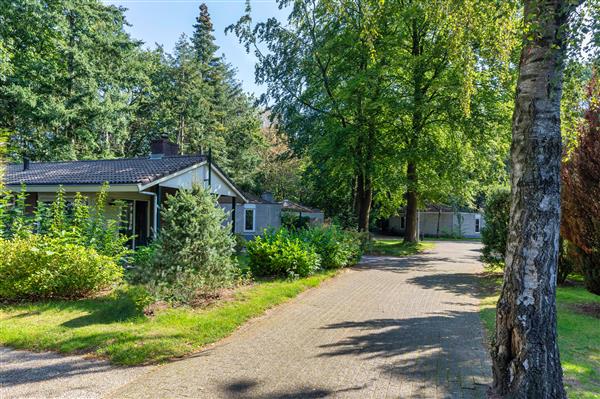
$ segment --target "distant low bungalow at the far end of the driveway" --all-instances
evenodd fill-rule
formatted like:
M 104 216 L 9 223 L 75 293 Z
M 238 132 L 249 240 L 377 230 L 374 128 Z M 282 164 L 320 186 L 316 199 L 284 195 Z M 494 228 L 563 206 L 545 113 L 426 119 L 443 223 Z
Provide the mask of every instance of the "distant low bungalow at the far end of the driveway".
M 485 220 L 481 213 L 469 209 L 454 209 L 444 205 L 429 205 L 418 212 L 420 236 L 455 236 L 480 238 Z M 403 212 L 384 221 L 382 230 L 386 233 L 404 234 L 406 217 Z

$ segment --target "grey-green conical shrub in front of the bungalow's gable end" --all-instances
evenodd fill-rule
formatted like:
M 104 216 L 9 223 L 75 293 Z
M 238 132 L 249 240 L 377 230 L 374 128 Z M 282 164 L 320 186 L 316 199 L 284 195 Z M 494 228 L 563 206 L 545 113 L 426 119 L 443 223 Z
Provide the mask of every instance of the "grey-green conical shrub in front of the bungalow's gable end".
M 138 255 L 135 272 L 163 299 L 189 302 L 230 285 L 237 275 L 227 215 L 205 188 L 179 190 L 165 202 L 155 247 Z

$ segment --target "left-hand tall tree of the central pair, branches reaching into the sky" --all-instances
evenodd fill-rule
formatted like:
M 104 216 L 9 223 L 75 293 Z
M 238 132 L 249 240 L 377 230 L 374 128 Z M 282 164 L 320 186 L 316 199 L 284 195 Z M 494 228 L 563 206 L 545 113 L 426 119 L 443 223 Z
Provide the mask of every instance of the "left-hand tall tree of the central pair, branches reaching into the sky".
M 275 19 L 253 26 L 248 5 L 228 29 L 258 56 L 257 81 L 269 88 L 263 101 L 272 101 L 294 151 L 308 155 L 322 202 L 341 199 L 367 230 L 383 172 L 375 159 L 382 154 L 385 52 L 372 23 L 384 15 L 371 1 L 281 2 L 288 4 L 287 26 Z

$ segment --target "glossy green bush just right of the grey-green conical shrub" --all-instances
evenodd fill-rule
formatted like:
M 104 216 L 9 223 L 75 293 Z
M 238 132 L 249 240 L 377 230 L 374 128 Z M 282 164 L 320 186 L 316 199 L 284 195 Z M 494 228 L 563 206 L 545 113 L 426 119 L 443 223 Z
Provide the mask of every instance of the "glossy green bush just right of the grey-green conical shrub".
M 304 277 L 320 266 L 320 257 L 312 245 L 286 229 L 267 231 L 248 241 L 246 248 L 255 276 Z

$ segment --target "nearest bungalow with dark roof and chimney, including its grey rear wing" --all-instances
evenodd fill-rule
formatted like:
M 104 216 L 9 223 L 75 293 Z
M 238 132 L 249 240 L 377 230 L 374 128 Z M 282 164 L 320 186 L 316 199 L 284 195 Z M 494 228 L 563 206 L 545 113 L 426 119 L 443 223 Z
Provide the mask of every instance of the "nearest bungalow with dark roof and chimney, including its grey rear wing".
M 59 186 L 65 191 L 67 201 L 80 192 L 93 204 L 107 182 L 110 185 L 108 203 L 120 200 L 125 204 L 123 230 L 135 236 L 131 243 L 133 248 L 146 245 L 160 231 L 160 209 L 166 196 L 178 189 L 190 189 L 193 184 L 209 186 L 217 194 L 220 206 L 229 212 L 236 234 L 252 238 L 267 228 L 281 226 L 285 202 L 275 202 L 269 193 L 260 197 L 243 193 L 207 156 L 178 155 L 178 146 L 166 139 L 152 142 L 151 152 L 148 157 L 130 159 L 24 160 L 7 165 L 4 183 L 12 191 L 20 191 L 25 184 L 28 205 L 33 207 L 38 201 L 52 202 Z M 116 213 L 111 214 L 116 209 L 109 206 L 108 217 L 117 218 Z

